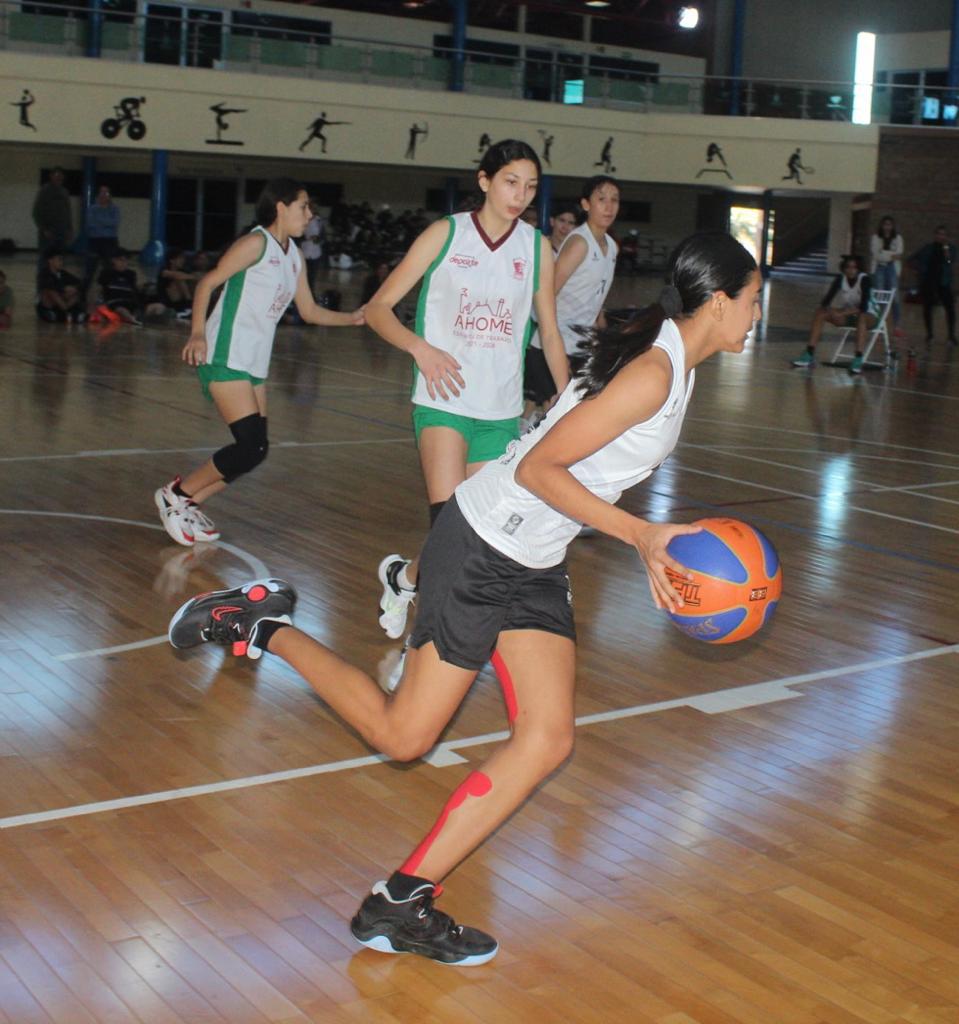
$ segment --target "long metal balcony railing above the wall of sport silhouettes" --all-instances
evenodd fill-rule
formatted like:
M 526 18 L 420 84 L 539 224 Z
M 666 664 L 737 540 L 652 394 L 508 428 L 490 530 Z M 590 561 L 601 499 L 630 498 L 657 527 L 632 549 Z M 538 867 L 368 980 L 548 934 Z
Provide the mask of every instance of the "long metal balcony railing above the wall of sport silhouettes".
M 84 56 L 95 34 L 100 57 L 110 60 L 431 90 L 462 80 L 470 93 L 636 113 L 852 120 L 851 82 L 630 73 L 604 69 L 601 57 L 569 49 L 550 51 L 549 57 L 524 56 L 519 45 L 516 55 L 457 53 L 340 36 L 328 27 L 317 22 L 315 31 L 296 32 L 234 26 L 230 10 L 190 6 L 169 17 L 0 0 L 0 50 L 8 52 Z M 537 45 L 537 54 L 543 51 Z M 954 125 L 959 99 L 946 88 L 879 83 L 871 110 L 879 124 Z

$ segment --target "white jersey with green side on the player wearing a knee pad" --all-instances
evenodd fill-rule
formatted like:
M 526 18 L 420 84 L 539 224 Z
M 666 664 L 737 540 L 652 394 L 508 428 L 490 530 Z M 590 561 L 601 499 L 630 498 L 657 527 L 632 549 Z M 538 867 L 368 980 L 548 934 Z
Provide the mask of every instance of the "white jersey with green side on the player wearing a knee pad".
M 207 344 L 212 365 L 265 378 L 276 325 L 296 295 L 301 257 L 292 239 L 284 252 L 265 227 L 252 233 L 263 236 L 263 254 L 226 280 L 207 321 Z

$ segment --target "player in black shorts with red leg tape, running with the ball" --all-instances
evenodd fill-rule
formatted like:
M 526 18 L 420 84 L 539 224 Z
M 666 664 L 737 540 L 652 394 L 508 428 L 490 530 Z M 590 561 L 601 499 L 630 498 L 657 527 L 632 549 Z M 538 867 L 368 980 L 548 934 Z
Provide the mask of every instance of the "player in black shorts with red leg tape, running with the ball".
M 397 760 L 436 742 L 476 673 L 494 656 L 510 738 L 470 772 L 432 830 L 379 882 L 351 922 L 364 945 L 447 964 L 482 964 L 496 941 L 460 928 L 433 901 L 440 883 L 570 754 L 575 634 L 565 553 L 581 523 L 634 547 L 657 607 L 682 600 L 670 539 L 698 527 L 654 523 L 615 507 L 675 445 L 694 368 L 739 352 L 759 317 L 755 261 L 727 234 L 683 242 L 669 287 L 626 326 L 594 332 L 589 357 L 548 414 L 497 462 L 462 483 L 422 556 L 402 685 L 388 696 L 359 669 L 290 625 L 282 581 L 188 601 L 170 624 L 175 647 L 234 643 L 278 655 L 370 745 Z M 495 655 L 493 651 L 495 650 Z

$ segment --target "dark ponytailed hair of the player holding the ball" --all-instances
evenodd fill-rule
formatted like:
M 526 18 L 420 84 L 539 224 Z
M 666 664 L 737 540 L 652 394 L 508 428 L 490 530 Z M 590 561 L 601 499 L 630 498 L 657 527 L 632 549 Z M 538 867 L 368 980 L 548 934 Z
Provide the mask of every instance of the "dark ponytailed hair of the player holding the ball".
M 731 234 L 691 234 L 669 257 L 666 287 L 657 302 L 619 327 L 586 330 L 579 344 L 585 362 L 577 375 L 583 397 L 592 398 L 659 337 L 663 321 L 692 316 L 715 292 L 731 299 L 746 287 L 756 261 Z

